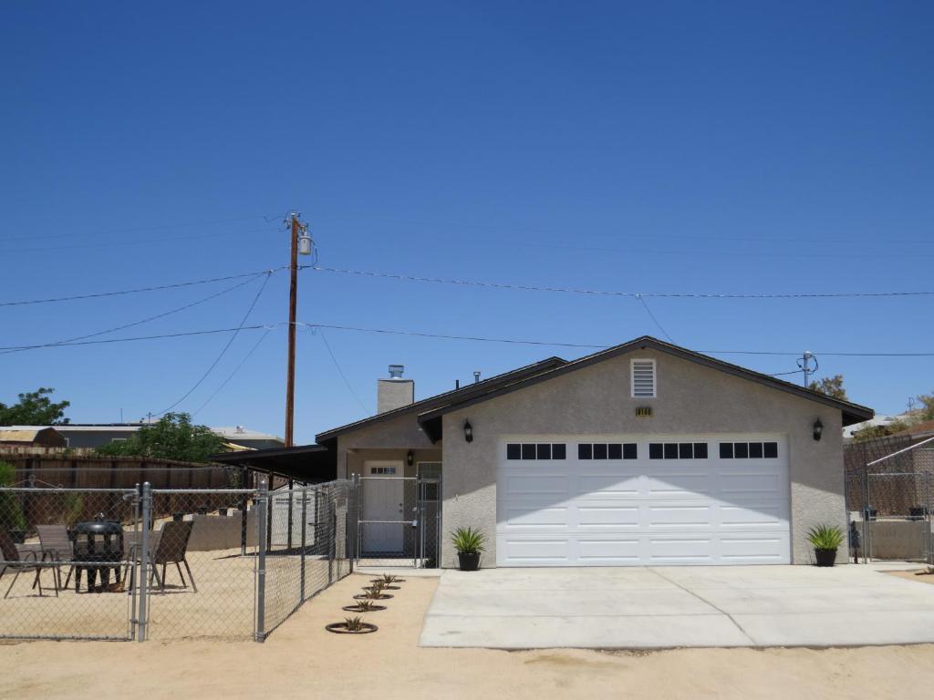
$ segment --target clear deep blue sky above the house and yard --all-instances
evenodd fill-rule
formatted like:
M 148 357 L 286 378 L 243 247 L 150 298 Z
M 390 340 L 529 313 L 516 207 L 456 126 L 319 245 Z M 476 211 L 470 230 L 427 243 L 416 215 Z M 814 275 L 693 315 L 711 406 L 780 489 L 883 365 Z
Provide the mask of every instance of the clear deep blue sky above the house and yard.
M 626 291 L 932 289 L 932 34 L 924 2 L 3 3 L 0 301 L 276 267 L 292 207 L 333 267 Z M 0 345 L 133 323 L 231 284 L 0 307 Z M 300 287 L 306 322 L 661 336 L 631 299 L 312 272 Z M 258 288 L 100 338 L 230 328 Z M 277 273 L 250 321 L 283 321 L 287 291 Z M 648 302 L 699 350 L 934 347 L 930 298 Z M 197 409 L 258 332 L 177 408 Z M 185 394 L 227 339 L 0 355 L 0 400 L 48 385 L 73 421 L 135 420 Z M 327 340 L 366 412 L 300 332 L 299 441 L 372 412 L 389 363 L 425 397 L 474 370 L 585 353 Z M 271 331 L 196 419 L 281 434 L 285 341 Z M 934 389 L 932 357 L 820 362 L 882 413 Z

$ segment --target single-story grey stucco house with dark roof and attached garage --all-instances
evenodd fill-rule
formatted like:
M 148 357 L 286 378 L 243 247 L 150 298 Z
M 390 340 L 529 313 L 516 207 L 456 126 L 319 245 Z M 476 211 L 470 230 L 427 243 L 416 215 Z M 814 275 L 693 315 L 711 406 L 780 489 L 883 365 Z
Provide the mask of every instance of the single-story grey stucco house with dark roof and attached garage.
M 812 526 L 847 526 L 842 427 L 873 416 L 649 336 L 419 401 L 400 369 L 317 440 L 339 478 L 440 476 L 443 567 L 468 525 L 484 567 L 807 564 Z M 407 518 L 402 493 L 362 517 Z

